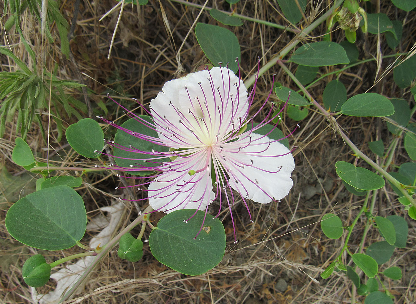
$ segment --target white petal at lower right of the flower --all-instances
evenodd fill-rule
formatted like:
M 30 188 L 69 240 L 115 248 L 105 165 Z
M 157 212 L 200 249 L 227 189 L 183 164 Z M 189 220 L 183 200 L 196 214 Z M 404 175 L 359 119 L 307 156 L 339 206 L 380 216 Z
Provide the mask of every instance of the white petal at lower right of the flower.
M 218 158 L 225 169 L 231 169 L 228 173 L 230 186 L 244 198 L 258 203 L 282 199 L 293 186 L 290 178 L 295 168 L 292 154 L 280 142 L 269 142 L 267 136 L 252 133 L 251 142 L 247 137 L 223 144 L 221 154 L 225 161 Z M 286 155 L 278 156 L 282 154 Z

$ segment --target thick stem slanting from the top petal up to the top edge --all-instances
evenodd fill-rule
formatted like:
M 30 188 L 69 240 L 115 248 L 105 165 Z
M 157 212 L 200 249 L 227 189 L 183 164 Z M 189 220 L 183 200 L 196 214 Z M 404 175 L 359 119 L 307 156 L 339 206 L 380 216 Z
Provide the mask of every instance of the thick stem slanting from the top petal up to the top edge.
M 177 1 L 177 0 L 176 0 Z M 274 66 L 278 60 L 281 60 L 283 57 L 285 57 L 296 45 L 305 38 L 310 32 L 312 32 L 313 29 L 315 29 L 318 25 L 320 25 L 322 22 L 327 20 L 327 18 L 342 4 L 344 0 L 338 0 L 334 2 L 334 5 L 330 10 L 325 12 L 321 17 L 319 17 L 317 20 L 312 22 L 309 26 L 305 27 L 299 34 L 297 34 L 297 39 L 294 39 L 290 44 L 288 44 L 286 47 L 284 47 L 279 54 L 276 54 L 272 59 L 270 59 L 264 66 L 260 68 L 258 71 L 258 76 L 262 76 L 266 71 L 268 71 L 272 66 Z M 244 85 L 246 88 L 251 86 L 256 78 L 258 77 L 256 74 L 249 77 L 246 81 L 244 81 Z

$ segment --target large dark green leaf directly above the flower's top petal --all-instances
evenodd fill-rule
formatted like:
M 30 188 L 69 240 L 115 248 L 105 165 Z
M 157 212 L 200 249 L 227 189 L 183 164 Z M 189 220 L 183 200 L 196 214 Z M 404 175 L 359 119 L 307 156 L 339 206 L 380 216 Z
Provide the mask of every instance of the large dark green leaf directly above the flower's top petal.
M 238 72 L 240 60 L 240 44 L 233 32 L 223 27 L 198 22 L 195 27 L 195 35 L 199 46 L 214 66 L 222 66 L 228 63 L 228 68 L 234 73 Z

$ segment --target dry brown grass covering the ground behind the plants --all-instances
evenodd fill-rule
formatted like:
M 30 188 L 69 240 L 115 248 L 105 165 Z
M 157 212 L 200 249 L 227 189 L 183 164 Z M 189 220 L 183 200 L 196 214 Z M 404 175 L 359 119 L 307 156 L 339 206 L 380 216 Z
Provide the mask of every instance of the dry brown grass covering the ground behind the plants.
M 77 7 L 73 1 L 62 1 L 62 13 L 67 20 L 72 20 Z M 203 5 L 203 1 L 196 1 Z M 414 12 L 406 14 L 397 10 L 390 1 L 381 1 L 379 7 L 374 6 L 374 11 L 386 12 L 391 19 L 405 20 L 403 37 L 399 51 L 408 51 L 415 37 L 416 15 Z M 380 3 L 379 1 L 374 4 Z M 207 64 L 208 60 L 198 46 L 191 25 L 200 12 L 199 9 L 187 7 L 170 1 L 149 1 L 148 5 L 136 7 L 127 5 L 121 17 L 115 36 L 111 57 L 106 59 L 109 52 L 109 44 L 114 27 L 119 15 L 115 10 L 108 17 L 99 22 L 99 18 L 108 12 L 116 4 L 115 1 L 81 1 L 79 15 L 70 41 L 73 58 L 64 58 L 57 44 L 42 44 L 40 36 L 40 24 L 27 11 L 22 15 L 22 32 L 25 39 L 30 42 L 35 53 L 42 62 L 42 68 L 51 71 L 55 64 L 58 77 L 82 81 L 94 91 L 87 98 L 92 109 L 96 113 L 102 113 L 97 103 L 103 101 L 109 109 L 106 118 L 109 120 L 123 119 L 123 113 L 106 98 L 110 93 L 115 98 L 126 99 L 125 105 L 135 107 L 134 103 L 127 101 L 126 97 L 136 97 L 144 104 L 150 102 L 161 89 L 163 83 L 173 77 L 180 76 L 178 64 L 183 67 L 185 73 L 194 71 L 198 66 Z M 209 2 L 218 9 L 229 10 L 224 1 Z M 327 1 L 310 1 L 305 17 L 300 28 L 309 25 L 314 17 L 324 9 Z M 163 13 L 166 14 L 165 24 Z M 241 15 L 255 17 L 260 20 L 287 24 L 277 8 L 275 1 L 240 1 L 233 6 Z M 2 11 L 2 10 L 1 10 Z M 7 16 L 1 18 L 0 26 L 4 25 Z M 210 17 L 208 11 L 204 11 L 198 20 L 210 24 L 217 24 Z M 292 39 L 295 34 L 281 29 L 275 29 L 266 25 L 253 22 L 244 22 L 241 27 L 227 27 L 238 37 L 242 49 L 240 67 L 242 74 L 251 76 L 257 69 L 257 58 L 260 57 L 261 65 L 265 64 L 272 56 L 277 54 Z M 191 31 L 186 39 L 177 61 L 178 48 L 184 37 Z M 54 37 L 57 31 L 52 30 Z M 319 41 L 319 36 L 324 34 L 325 26 L 322 24 L 316 28 L 310 37 L 302 43 Z M 4 30 L 2 30 L 4 33 Z M 337 30 L 332 33 L 332 40 L 340 42 L 344 40 L 343 32 Z M 59 40 L 57 40 L 59 41 Z M 13 47 L 15 54 L 27 61 L 27 53 L 18 35 L 2 35 L 2 44 Z M 360 58 L 377 57 L 377 37 L 375 35 L 359 36 L 357 43 L 360 50 Z M 42 47 L 43 46 L 43 47 Z M 392 54 L 383 37 L 381 37 L 381 53 Z M 42 51 L 44 51 L 42 56 Z M 43 58 L 43 59 L 42 59 Z M 44 60 L 44 61 L 41 61 Z M 340 74 L 339 80 L 346 87 L 348 96 L 364 93 L 371 89 L 372 92 L 384 94 L 389 97 L 406 98 L 412 100 L 408 91 L 400 90 L 393 81 L 392 71 L 386 70 L 393 59 L 370 61 Z M 1 58 L 2 71 L 13 70 L 15 67 L 7 58 Z M 288 68 L 295 72 L 296 65 L 287 63 Z M 380 67 L 377 73 L 377 67 Z M 322 67 L 319 73 L 325 74 L 336 68 Z M 383 74 L 384 71 L 389 73 Z M 82 73 L 82 74 L 81 74 Z M 258 104 L 267 96 L 272 86 L 272 74 L 277 74 L 276 79 L 284 86 L 296 89 L 292 80 L 278 66 L 267 71 L 258 81 Z M 87 77 L 86 75 L 90 76 Z M 381 78 L 380 76 L 383 75 Z M 334 76 L 335 78 L 335 76 Z M 322 102 L 322 92 L 326 84 L 331 81 L 326 77 L 308 89 L 318 102 Z M 378 82 L 376 82 L 376 80 Z M 375 85 L 374 85 L 375 83 Z M 79 93 L 74 97 L 83 100 Z M 120 97 L 121 96 L 121 97 Z M 124 97 L 123 97 L 124 96 Z M 272 97 L 275 98 L 275 97 Z M 256 107 L 258 104 L 255 104 Z M 414 103 L 412 103 L 414 105 Z M 43 124 L 47 129 L 48 113 L 42 114 Z M 253 108 L 253 112 L 255 108 Z M 139 110 L 140 112 L 140 110 Z M 95 114 L 94 114 L 95 115 Z M 64 118 L 64 126 L 76 122 L 75 118 Z M 394 137 L 387 131 L 382 118 L 352 118 L 341 117 L 338 120 L 350 139 L 370 157 L 374 154 L 369 150 L 367 142 L 380 139 L 388 146 Z M 282 131 L 288 134 L 293 130 L 296 122 L 284 118 Z M 233 244 L 230 216 L 223 211 L 220 219 L 226 227 L 227 240 L 226 255 L 223 262 L 208 273 L 196 277 L 181 275 L 161 265 L 154 259 L 147 245 L 144 246 L 144 257 L 137 263 L 129 263 L 120 260 L 116 250 L 102 260 L 94 269 L 87 280 L 87 284 L 78 292 L 76 298 L 65 303 L 181 303 L 181 304 L 269 304 L 269 303 L 351 303 L 362 302 L 362 297 L 357 296 L 352 283 L 346 275 L 336 272 L 331 278 L 323 280 L 319 277 L 322 270 L 337 255 L 343 240 L 329 240 L 320 230 L 319 220 L 322 214 L 332 211 L 340 216 L 342 221 L 350 224 L 363 204 L 363 198 L 352 196 L 344 188 L 334 170 L 334 163 L 338 160 L 354 162 L 351 150 L 344 145 L 342 139 L 332 130 L 327 121 L 311 109 L 310 114 L 301 122 L 302 128 L 289 138 L 290 144 L 299 148 L 295 152 L 296 168 L 293 173 L 294 187 L 290 194 L 280 203 L 260 205 L 253 203 L 250 210 L 254 215 L 254 224 L 251 224 L 248 214 L 242 204 L 234 206 L 237 214 L 236 226 L 240 242 Z M 77 159 L 77 155 L 69 149 L 64 140 L 56 142 L 56 125 L 53 121 L 50 125 L 50 150 L 51 162 L 54 165 L 92 166 L 93 162 L 85 159 Z M 107 130 L 106 136 L 110 137 L 114 130 Z M 14 146 L 15 124 L 7 124 L 4 138 L 0 139 L 2 166 L 7 168 L 15 176 L 24 174 L 20 167 L 11 161 L 11 151 Z M 27 142 L 41 161 L 46 161 L 46 144 L 39 132 L 39 127 L 33 125 L 28 133 Z M 399 145 L 393 158 L 390 170 L 394 171 L 396 165 L 409 161 L 403 147 Z M 374 158 L 377 162 L 381 160 Z M 359 161 L 366 167 L 366 164 Z M 65 174 L 64 169 L 59 174 Z M 120 190 L 113 190 L 119 185 L 119 180 L 111 174 L 89 174 L 84 181 L 79 193 L 83 196 L 89 218 L 98 213 L 98 208 L 108 206 L 114 198 L 124 194 Z M 308 195 L 311 189 L 318 189 L 313 195 Z M 125 193 L 124 195 L 129 195 Z M 403 269 L 404 278 L 400 281 L 386 280 L 384 284 L 394 294 L 396 303 L 411 303 L 416 299 L 414 287 L 416 272 L 414 259 L 415 249 L 415 222 L 404 214 L 403 206 L 397 201 L 393 191 L 386 184 L 380 189 L 376 197 L 378 214 L 381 216 L 398 214 L 409 221 L 408 246 L 404 249 L 396 249 L 390 262 L 391 266 L 399 266 Z M 34 253 L 34 250 L 12 240 L 4 226 L 4 218 L 10 203 L 0 204 L 0 302 L 7 304 L 32 303 L 30 289 L 21 278 L 23 262 Z M 145 206 L 140 206 L 144 209 Z M 211 213 L 217 211 L 218 205 L 214 203 Z M 134 214 L 134 206 L 126 206 L 127 216 L 122 225 L 128 224 Z M 159 215 L 153 216 L 157 221 Z M 355 252 L 359 248 L 365 229 L 365 218 L 358 222 L 349 241 L 349 250 Z M 146 228 L 146 235 L 150 229 Z M 134 232 L 138 232 L 135 231 Z M 87 243 L 93 233 L 87 233 L 83 242 Z M 381 240 L 379 233 L 370 229 L 366 235 L 365 244 Z M 74 253 L 72 248 L 65 252 L 42 252 L 48 261 L 56 260 L 62 256 Z M 344 255 L 344 262 L 349 257 Z M 317 284 L 312 279 L 317 279 Z M 276 289 L 279 279 L 285 279 L 288 287 L 285 291 Z M 45 287 L 39 289 L 40 293 L 54 289 L 54 282 L 50 281 Z

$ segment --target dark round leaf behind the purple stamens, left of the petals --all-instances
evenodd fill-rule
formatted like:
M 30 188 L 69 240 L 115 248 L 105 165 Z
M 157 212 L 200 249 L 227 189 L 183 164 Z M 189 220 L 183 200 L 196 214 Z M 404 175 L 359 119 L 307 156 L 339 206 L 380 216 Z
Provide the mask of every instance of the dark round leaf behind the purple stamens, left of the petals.
M 144 135 L 158 138 L 159 136 L 157 132 L 143 125 L 142 123 L 140 123 L 140 121 L 138 121 L 140 119 L 146 120 L 148 123 L 153 124 L 150 116 L 140 115 L 138 116 L 138 118 L 130 118 L 129 120 L 127 120 L 125 123 L 121 125 L 121 128 L 134 131 L 136 134 L 144 134 Z M 116 132 L 116 136 L 114 137 L 114 141 L 116 142 L 117 145 L 121 145 L 122 147 L 126 147 L 127 149 L 131 145 L 132 150 L 137 149 L 140 151 L 149 152 L 149 154 L 136 153 L 136 152 L 130 152 L 130 151 L 118 149 L 115 147 L 114 148 L 114 160 L 117 166 L 124 167 L 124 168 L 130 168 L 129 167 L 130 165 L 139 167 L 139 168 L 141 165 L 145 167 L 154 167 L 154 166 L 158 166 L 160 162 L 170 161 L 168 157 L 163 158 L 163 159 L 156 159 L 155 162 L 158 162 L 157 164 L 152 163 L 152 162 L 144 162 L 143 160 L 138 160 L 138 159 L 151 160 L 152 149 L 158 152 L 168 152 L 169 148 L 154 144 L 153 142 L 149 142 L 141 138 L 137 138 L 136 136 L 131 135 L 131 133 L 129 132 L 125 132 L 123 130 L 118 129 Z M 152 173 L 149 171 L 127 171 L 127 172 L 129 172 L 129 174 L 132 174 L 132 175 L 148 175 Z

